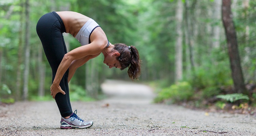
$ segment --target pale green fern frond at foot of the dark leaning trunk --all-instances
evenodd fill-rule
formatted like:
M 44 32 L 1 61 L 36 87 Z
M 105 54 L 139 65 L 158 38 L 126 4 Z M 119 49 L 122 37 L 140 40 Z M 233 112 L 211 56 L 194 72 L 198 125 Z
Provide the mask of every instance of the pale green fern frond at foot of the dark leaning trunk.
M 233 103 L 237 100 L 241 100 L 241 99 L 250 100 L 247 95 L 243 95 L 243 94 L 239 94 L 239 93 L 227 94 L 227 95 L 217 95 L 216 98 L 221 98 L 225 101 L 230 101 L 231 103 Z

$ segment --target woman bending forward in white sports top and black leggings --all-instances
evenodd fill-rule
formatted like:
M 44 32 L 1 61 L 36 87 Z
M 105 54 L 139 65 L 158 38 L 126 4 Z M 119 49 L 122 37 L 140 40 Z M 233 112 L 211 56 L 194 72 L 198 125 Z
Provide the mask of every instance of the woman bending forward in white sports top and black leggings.
M 82 46 L 67 52 L 64 32 L 70 33 Z M 68 87 L 76 69 L 91 58 L 102 53 L 103 63 L 109 68 L 123 70 L 128 67 L 129 77 L 132 80 L 139 78 L 138 50 L 125 44 L 112 45 L 97 22 L 87 16 L 71 11 L 47 13 L 37 23 L 37 34 L 52 68 L 51 95 L 61 114 L 61 129 L 83 129 L 93 125 L 93 121 L 80 119 L 76 110 L 72 112 Z

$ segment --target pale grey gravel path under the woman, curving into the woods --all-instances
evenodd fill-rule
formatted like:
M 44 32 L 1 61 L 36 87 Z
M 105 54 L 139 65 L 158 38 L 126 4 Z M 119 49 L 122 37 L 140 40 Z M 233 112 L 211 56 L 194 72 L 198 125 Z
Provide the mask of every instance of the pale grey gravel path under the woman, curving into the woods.
M 255 116 L 206 114 L 205 111 L 181 106 L 152 104 L 154 94 L 151 88 L 136 83 L 106 81 L 102 88 L 108 99 L 71 102 L 79 117 L 94 121 L 89 129 L 60 129 L 60 114 L 55 101 L 16 102 L 0 106 L 0 136 L 256 135 Z

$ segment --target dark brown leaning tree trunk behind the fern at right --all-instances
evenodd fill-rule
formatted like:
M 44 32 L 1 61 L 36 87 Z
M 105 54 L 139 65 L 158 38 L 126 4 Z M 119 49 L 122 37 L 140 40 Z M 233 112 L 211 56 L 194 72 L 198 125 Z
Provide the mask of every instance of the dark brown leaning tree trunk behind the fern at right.
M 236 30 L 232 20 L 231 0 L 222 0 L 222 21 L 227 38 L 228 54 L 235 92 L 247 94 L 240 65 Z

